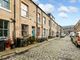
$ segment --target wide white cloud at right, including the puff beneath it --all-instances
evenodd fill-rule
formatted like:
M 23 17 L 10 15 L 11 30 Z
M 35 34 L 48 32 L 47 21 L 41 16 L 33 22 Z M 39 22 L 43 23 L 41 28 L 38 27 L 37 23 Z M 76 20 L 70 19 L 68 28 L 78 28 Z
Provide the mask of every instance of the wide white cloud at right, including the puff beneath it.
M 58 11 L 59 11 L 59 16 L 62 17 L 62 18 L 68 18 L 68 14 L 70 13 L 77 13 L 79 10 L 77 7 L 74 7 L 74 6 L 60 6 L 58 8 Z

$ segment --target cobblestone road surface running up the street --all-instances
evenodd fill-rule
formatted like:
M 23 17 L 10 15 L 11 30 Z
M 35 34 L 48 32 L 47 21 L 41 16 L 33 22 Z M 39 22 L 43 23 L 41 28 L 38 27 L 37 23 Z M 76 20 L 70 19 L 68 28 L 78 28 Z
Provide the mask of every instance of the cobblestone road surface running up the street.
M 69 37 L 56 39 L 6 60 L 80 60 L 80 48 Z

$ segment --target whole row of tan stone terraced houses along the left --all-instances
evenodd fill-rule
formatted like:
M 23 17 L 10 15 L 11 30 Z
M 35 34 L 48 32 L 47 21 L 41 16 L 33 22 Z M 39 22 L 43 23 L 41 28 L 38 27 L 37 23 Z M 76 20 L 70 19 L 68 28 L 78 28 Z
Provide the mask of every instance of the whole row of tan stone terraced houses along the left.
M 14 43 L 15 38 L 55 37 L 61 33 L 61 26 L 51 14 L 46 14 L 32 0 L 0 0 L 0 37 Z

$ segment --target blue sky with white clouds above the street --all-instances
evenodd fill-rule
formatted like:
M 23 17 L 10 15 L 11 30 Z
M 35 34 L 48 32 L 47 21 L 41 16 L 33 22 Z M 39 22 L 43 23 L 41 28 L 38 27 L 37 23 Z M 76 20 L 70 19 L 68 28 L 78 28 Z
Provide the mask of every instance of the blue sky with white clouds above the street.
M 80 0 L 33 0 L 46 13 L 51 13 L 61 26 L 75 25 L 80 19 Z

